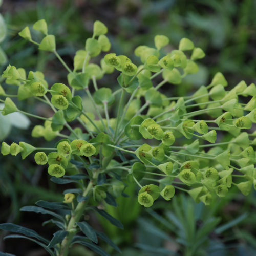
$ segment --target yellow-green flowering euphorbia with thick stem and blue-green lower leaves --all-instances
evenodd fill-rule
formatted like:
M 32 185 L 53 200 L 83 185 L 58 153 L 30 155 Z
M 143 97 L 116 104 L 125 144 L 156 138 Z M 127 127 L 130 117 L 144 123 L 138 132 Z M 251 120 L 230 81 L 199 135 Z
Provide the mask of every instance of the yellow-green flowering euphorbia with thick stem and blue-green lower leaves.
M 33 237 L 28 239 L 43 246 L 51 255 L 68 255 L 74 243 L 85 245 L 101 255 L 109 255 L 95 244 L 97 237 L 116 250 L 119 250 L 118 247 L 103 233 L 94 230 L 87 218 L 82 220 L 82 216 L 89 210 L 95 210 L 113 225 L 122 228 L 118 220 L 102 209 L 102 201 L 116 207 L 115 198 L 127 196 L 124 189 L 131 183 L 140 187 L 138 202 L 145 207 L 152 206 L 160 196 L 170 201 L 175 189 L 185 191 L 196 202 L 208 205 L 213 196 L 225 197 L 232 185 L 244 195 L 248 195 L 252 184 L 256 186 L 252 147 L 255 141 L 249 140 L 249 136 L 253 137 L 255 133 L 241 132 L 250 129 L 252 122 L 256 122 L 254 84 L 247 86 L 241 81 L 232 90 L 226 91 L 227 81 L 221 73 L 217 73 L 208 86 L 201 86 L 191 96 L 167 97 L 159 92 L 161 86 L 166 83 L 172 87 L 179 86 L 186 75 L 198 72 L 195 61 L 205 56 L 203 50 L 195 47 L 189 39 L 182 38 L 178 50 L 160 56 L 159 50 L 168 45 L 169 39 L 157 35 L 156 48 L 139 46 L 135 49 L 142 65 L 137 67 L 128 57 L 109 53 L 101 59 L 99 66 L 89 63 L 91 58 L 101 51 L 108 52 L 111 44 L 105 36 L 108 29 L 96 21 L 93 37 L 87 39 L 85 50 L 76 52 L 72 71 L 57 53 L 55 37 L 48 34 L 45 20 L 39 20 L 33 28 L 45 34 L 40 43 L 32 40 L 28 27 L 19 35 L 38 45 L 39 50 L 53 52 L 57 56 L 68 71 L 69 86 L 55 83 L 49 88 L 41 72 L 30 71 L 26 75 L 23 68 L 9 65 L 2 76 L 6 77 L 7 84 L 18 86 L 18 100 L 34 97 L 51 106 L 55 114 L 45 118 L 25 113 L 0 87 L 0 95 L 6 96 L 5 100 L 1 100 L 5 103 L 2 114 L 22 112 L 42 119 L 44 125 L 34 126 L 32 137 L 44 137 L 46 141 L 56 137 L 64 139 L 59 140 L 54 148 L 47 145 L 36 148 L 25 142 L 11 145 L 3 142 L 1 152 L 15 156 L 20 153 L 23 159 L 35 153 L 37 164 L 49 165 L 52 182 L 74 182 L 74 188 L 63 191 L 63 202 L 38 201 L 37 206 L 20 209 L 50 214 L 58 219 L 49 220 L 61 229 L 54 233 L 51 241 L 33 230 L 10 223 L 0 224 L 0 228 L 27 237 L 11 235 L 6 238 Z M 117 81 L 121 88 L 115 92 L 111 88 L 98 88 L 97 80 L 115 69 L 120 72 Z M 155 74 L 152 75 L 152 72 Z M 153 87 L 152 80 L 160 75 L 163 81 Z M 83 109 L 81 97 L 75 96 L 78 90 L 85 91 L 97 117 Z M 117 117 L 110 118 L 109 106 L 115 102 L 118 93 L 121 96 L 117 102 Z M 125 94 L 131 96 L 123 108 Z M 240 95 L 251 98 L 248 103 L 240 103 Z M 140 98 L 145 99 L 143 105 Z M 193 101 L 196 103 L 191 104 Z M 194 107 L 199 110 L 191 111 Z M 100 113 L 101 108 L 104 116 Z M 147 113 L 142 114 L 146 109 Z M 72 129 L 68 123 L 74 120 L 84 130 Z M 208 126 L 210 123 L 214 126 Z M 61 133 L 64 126 L 70 131 L 69 136 Z M 233 138 L 229 142 L 215 143 L 216 131 L 219 134 L 226 131 Z M 177 146 L 173 146 L 175 142 Z M 211 148 L 207 151 L 208 147 Z M 242 174 L 233 174 L 237 171 Z M 234 177 L 244 181 L 233 182 Z M 142 186 L 141 181 L 147 185 Z M 66 210 L 67 214 L 57 214 L 54 210 Z M 78 235 L 80 231 L 86 236 Z

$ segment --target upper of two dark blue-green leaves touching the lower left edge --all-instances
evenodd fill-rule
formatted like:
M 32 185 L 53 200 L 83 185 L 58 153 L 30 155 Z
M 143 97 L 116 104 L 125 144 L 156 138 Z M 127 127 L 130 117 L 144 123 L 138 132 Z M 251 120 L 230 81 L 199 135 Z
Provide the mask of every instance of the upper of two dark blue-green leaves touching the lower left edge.
M 9 232 L 25 234 L 25 236 L 34 237 L 34 238 L 37 238 L 38 240 L 41 240 L 44 243 L 47 243 L 47 244 L 49 243 L 48 239 L 41 237 L 36 231 L 26 228 L 26 227 L 21 227 L 21 226 L 15 225 L 13 223 L 0 224 L 0 229 L 6 230 Z

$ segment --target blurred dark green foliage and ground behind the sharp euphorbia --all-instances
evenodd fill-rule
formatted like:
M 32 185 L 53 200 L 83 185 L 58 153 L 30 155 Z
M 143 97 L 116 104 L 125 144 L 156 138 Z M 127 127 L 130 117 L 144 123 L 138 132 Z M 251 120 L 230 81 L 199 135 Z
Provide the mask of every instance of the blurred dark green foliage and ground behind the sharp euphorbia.
M 166 85 L 161 88 L 168 96 L 191 95 L 202 84 L 207 86 L 218 71 L 224 74 L 231 87 L 241 80 L 247 84 L 256 80 L 256 3 L 253 0 L 4 0 L 0 8 L 0 73 L 10 63 L 17 68 L 22 66 L 27 71 L 43 72 L 49 84 L 67 84 L 67 73 L 53 54 L 39 51 L 37 55 L 36 47 L 28 45 L 18 36 L 25 26 L 32 26 L 36 20 L 45 18 L 49 32 L 56 36 L 58 53 L 70 67 L 73 66 L 75 52 L 84 49 L 86 39 L 92 36 L 95 20 L 101 20 L 109 28 L 111 52 L 128 56 L 136 65 L 139 61 L 134 49 L 138 45 L 151 47 L 156 34 L 166 35 L 170 39 L 166 53 L 178 46 L 182 37 L 191 39 L 204 50 L 206 57 L 201 61 L 199 73 L 188 75 L 178 87 Z M 34 38 L 39 36 L 39 33 L 33 34 Z M 99 61 L 102 56 L 96 60 Z M 10 94 L 15 94 L 17 90 L 15 86 L 1 85 L 5 90 L 8 87 Z M 98 86 L 118 88 L 116 74 L 99 80 Z M 92 111 L 87 99 L 81 96 L 86 109 Z M 30 109 L 31 112 L 32 99 L 19 104 L 22 104 L 24 111 Z M 112 111 L 115 109 L 113 107 Z M 38 102 L 33 109 L 37 115 L 50 111 Z M 17 118 L 7 120 L 0 116 L 0 140 L 9 135 L 5 139 L 8 144 L 25 141 L 40 147 L 44 140 L 31 138 L 29 121 L 17 121 Z M 33 119 L 34 124 L 39 124 L 36 122 Z M 222 141 L 228 139 L 222 138 Z M 50 143 L 54 145 L 55 141 Z M 20 207 L 39 199 L 62 201 L 63 198 L 58 186 L 49 182 L 44 167 L 36 167 L 33 157 L 30 160 L 21 163 L 18 157 L 14 162 L 9 156 L 0 156 L 0 222 L 14 222 L 39 233 L 48 232 L 48 229 L 40 226 L 46 220 L 45 216 L 31 214 L 25 217 L 18 211 Z M 3 172 L 3 169 L 7 171 Z M 228 197 L 219 199 L 211 206 L 195 204 L 181 195 L 170 201 L 167 208 L 166 203 L 160 201 L 154 204 L 153 210 L 142 209 L 138 204 L 135 187 L 126 188 L 125 193 L 130 198 L 119 198 L 119 207 L 105 206 L 110 214 L 122 222 L 124 230 L 108 225 L 99 216 L 90 216 L 92 225 L 97 230 L 104 230 L 119 245 L 122 255 L 256 254 L 254 190 L 246 198 L 231 190 Z M 129 218 L 124 219 L 122 212 L 130 212 Z M 11 251 L 17 256 L 46 255 L 33 244 L 18 240 L 14 247 L 11 241 L 3 244 L 1 239 L 2 250 Z M 114 253 L 110 247 L 106 250 Z M 77 256 L 84 254 L 94 255 L 80 246 L 72 252 Z

